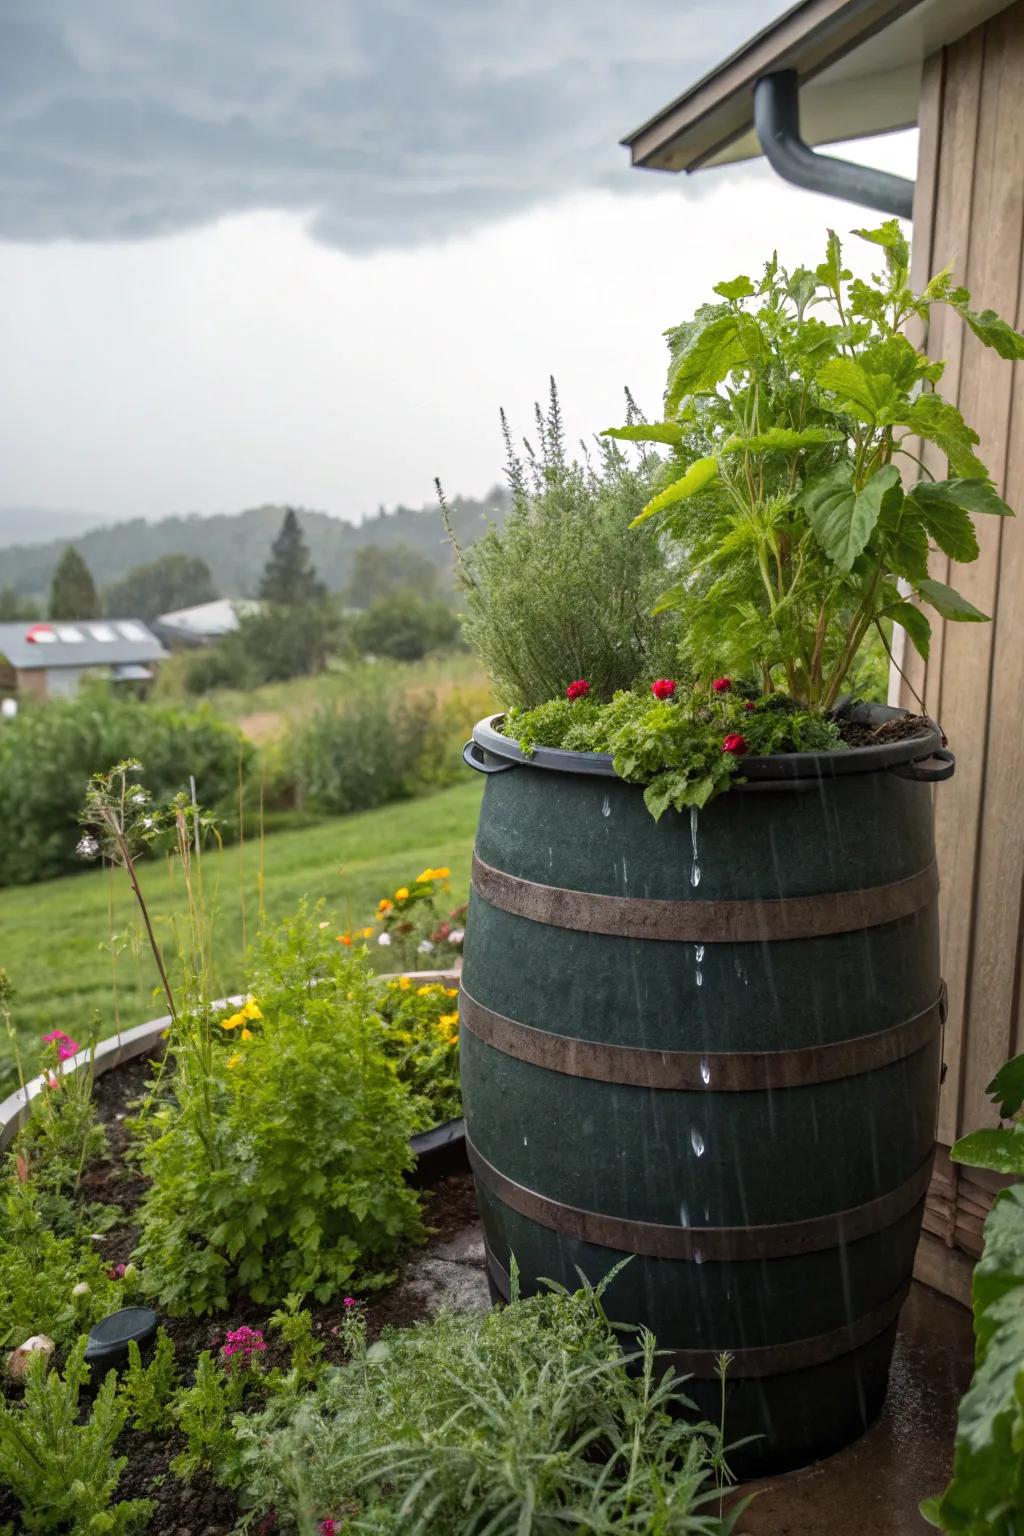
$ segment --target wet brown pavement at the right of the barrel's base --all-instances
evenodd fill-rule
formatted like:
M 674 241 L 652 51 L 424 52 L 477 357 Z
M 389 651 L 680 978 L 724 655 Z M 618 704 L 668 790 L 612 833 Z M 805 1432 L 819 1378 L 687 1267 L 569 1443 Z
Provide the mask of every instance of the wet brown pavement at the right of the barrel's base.
M 760 1493 L 737 1536 L 924 1536 L 918 1504 L 949 1481 L 972 1361 L 970 1312 L 915 1284 L 877 1422 L 827 1461 L 749 1484 Z

